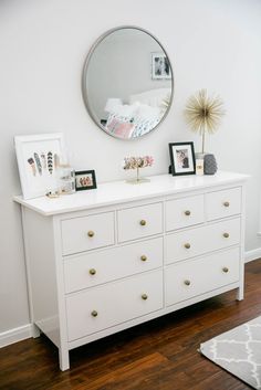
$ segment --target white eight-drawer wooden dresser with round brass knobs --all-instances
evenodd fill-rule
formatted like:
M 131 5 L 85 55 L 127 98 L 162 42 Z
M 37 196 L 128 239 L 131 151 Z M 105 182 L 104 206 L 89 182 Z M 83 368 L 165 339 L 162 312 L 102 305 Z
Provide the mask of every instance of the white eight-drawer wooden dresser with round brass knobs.
M 237 288 L 243 298 L 247 176 L 150 177 L 23 200 L 34 336 L 69 351 Z M 178 315 L 178 314 L 177 314 Z

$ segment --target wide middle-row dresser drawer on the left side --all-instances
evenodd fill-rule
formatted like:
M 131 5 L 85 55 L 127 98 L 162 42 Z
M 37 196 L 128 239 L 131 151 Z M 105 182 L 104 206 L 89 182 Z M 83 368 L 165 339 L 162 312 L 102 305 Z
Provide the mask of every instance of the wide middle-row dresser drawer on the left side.
M 70 256 L 64 261 L 65 292 L 92 287 L 163 266 L 163 238 Z

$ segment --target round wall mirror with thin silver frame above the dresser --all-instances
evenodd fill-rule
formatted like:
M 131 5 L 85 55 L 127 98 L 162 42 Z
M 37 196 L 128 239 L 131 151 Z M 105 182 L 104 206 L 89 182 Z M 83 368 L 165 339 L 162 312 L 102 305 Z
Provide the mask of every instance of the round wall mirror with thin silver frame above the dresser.
M 96 125 L 111 136 L 137 139 L 166 117 L 173 70 L 160 43 L 133 27 L 108 31 L 84 64 L 83 98 Z

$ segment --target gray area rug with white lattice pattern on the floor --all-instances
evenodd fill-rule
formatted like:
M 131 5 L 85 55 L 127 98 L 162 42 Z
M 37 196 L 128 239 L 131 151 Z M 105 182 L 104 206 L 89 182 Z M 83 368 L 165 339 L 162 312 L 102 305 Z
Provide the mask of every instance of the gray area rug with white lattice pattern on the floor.
M 200 352 L 261 389 L 261 316 L 200 345 Z

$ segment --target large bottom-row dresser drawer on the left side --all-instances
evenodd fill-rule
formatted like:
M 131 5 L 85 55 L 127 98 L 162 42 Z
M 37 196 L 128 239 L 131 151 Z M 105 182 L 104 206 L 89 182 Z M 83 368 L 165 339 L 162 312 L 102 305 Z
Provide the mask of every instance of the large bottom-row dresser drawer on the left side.
M 161 307 L 161 271 L 75 293 L 66 297 L 69 341 Z

